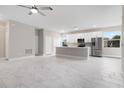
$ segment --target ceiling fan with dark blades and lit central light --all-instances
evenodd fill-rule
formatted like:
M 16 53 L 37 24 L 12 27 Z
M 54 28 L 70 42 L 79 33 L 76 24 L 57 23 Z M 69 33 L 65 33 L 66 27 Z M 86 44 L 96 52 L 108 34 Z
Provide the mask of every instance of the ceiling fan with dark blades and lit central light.
M 53 8 L 51 8 L 50 6 L 48 6 L 48 7 L 39 7 L 39 6 L 36 6 L 36 5 L 33 5 L 33 6 L 31 6 L 31 7 L 30 7 L 30 6 L 25 6 L 25 5 L 18 5 L 18 6 L 23 7 L 23 8 L 27 8 L 27 9 L 30 9 L 28 15 L 32 15 L 32 14 L 38 13 L 38 14 L 40 14 L 40 15 L 42 15 L 42 16 L 46 16 L 46 15 L 42 12 L 42 10 L 50 10 L 50 11 L 53 10 Z

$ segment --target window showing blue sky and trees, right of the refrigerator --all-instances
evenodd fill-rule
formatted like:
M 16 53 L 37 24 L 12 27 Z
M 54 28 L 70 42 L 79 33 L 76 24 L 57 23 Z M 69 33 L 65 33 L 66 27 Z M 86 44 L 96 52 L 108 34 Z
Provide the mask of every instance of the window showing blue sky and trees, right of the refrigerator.
M 104 32 L 104 47 L 120 47 L 120 38 L 121 38 L 121 32 L 120 31 L 114 31 L 114 32 Z

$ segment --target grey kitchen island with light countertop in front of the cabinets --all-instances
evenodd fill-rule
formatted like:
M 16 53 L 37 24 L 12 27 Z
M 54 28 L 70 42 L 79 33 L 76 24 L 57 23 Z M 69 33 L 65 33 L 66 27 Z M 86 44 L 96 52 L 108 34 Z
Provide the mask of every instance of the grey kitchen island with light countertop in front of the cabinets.
M 88 47 L 56 47 L 56 56 L 87 59 L 89 57 Z

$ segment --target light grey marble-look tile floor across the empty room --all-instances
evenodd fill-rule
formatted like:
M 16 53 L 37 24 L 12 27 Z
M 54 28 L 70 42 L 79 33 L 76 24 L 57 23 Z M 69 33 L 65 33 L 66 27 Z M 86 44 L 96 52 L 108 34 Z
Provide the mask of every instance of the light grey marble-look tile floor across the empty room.
M 33 57 L 0 62 L 2 88 L 124 87 L 121 59 Z

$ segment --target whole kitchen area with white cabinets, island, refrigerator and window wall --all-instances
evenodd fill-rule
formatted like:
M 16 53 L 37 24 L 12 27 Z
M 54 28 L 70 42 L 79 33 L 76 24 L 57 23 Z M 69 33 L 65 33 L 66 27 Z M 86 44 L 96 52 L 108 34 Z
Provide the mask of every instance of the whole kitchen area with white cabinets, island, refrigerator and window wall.
M 115 57 L 115 58 L 121 57 L 120 38 L 111 40 L 116 35 L 121 36 L 120 26 L 113 26 L 106 28 L 92 28 L 88 30 L 89 31 L 84 30 L 84 31 L 75 31 L 75 32 L 73 31 L 73 32 L 63 33 L 61 35 L 62 47 L 56 48 L 57 56 L 58 55 L 66 56 L 66 57 L 68 56 L 72 58 L 73 57 L 88 58 L 89 56 Z M 106 36 L 106 33 L 110 35 L 113 33 L 115 34 L 113 34 L 112 36 L 110 35 Z M 105 40 L 106 38 L 109 38 L 109 40 L 106 41 Z M 109 44 L 110 41 L 112 41 L 111 44 L 113 44 L 111 46 Z M 108 51 L 112 51 L 112 52 L 108 53 Z

